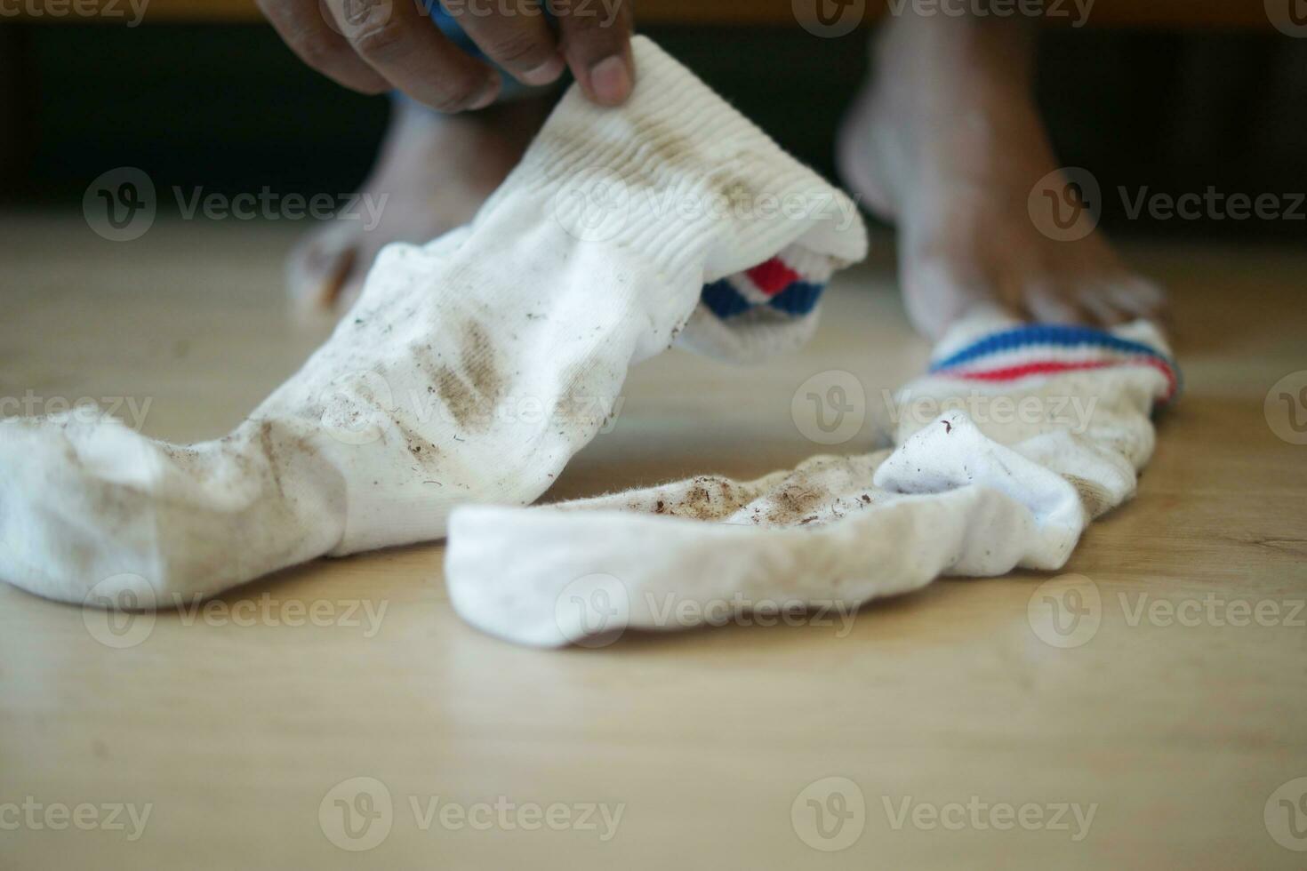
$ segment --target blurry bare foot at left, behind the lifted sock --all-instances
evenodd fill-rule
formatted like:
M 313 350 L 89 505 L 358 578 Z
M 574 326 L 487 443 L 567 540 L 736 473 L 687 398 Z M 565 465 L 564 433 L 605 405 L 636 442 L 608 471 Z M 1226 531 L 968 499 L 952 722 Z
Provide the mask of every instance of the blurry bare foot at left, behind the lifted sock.
M 310 231 L 286 262 L 302 312 L 344 311 L 376 253 L 392 242 L 429 242 L 472 219 L 521 158 L 549 111 L 531 98 L 461 115 L 397 101 L 362 204 Z

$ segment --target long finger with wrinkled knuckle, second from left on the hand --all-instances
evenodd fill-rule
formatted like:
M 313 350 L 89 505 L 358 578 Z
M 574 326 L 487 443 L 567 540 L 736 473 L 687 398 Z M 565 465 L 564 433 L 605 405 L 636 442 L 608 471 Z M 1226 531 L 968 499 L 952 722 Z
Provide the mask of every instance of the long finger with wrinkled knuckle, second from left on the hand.
M 446 39 L 418 3 L 324 1 L 354 52 L 420 103 L 460 112 L 489 106 L 499 95 L 499 73 Z

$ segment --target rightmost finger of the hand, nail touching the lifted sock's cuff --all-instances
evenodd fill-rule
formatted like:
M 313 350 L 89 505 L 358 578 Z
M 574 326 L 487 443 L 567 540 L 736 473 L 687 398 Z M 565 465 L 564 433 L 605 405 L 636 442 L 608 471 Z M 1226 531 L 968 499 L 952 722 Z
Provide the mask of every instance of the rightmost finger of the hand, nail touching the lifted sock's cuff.
M 562 52 L 586 95 L 618 106 L 631 95 L 631 0 L 549 0 L 558 17 Z

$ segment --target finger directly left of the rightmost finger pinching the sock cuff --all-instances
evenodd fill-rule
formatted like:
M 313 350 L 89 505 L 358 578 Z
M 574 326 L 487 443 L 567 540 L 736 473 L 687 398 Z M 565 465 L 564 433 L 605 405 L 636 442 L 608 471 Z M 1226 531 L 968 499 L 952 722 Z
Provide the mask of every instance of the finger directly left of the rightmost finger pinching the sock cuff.
M 566 65 L 540 0 L 446 3 L 446 12 L 490 60 L 527 85 L 549 85 Z

